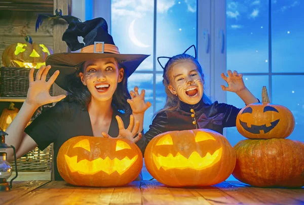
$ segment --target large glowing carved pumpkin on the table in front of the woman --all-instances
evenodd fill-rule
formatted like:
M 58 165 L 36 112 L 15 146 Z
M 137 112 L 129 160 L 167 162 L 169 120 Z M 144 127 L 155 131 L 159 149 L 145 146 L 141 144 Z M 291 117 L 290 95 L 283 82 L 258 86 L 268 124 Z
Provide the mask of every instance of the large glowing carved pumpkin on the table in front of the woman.
M 126 139 L 78 136 L 57 155 L 60 176 L 77 186 L 116 187 L 132 182 L 142 168 L 142 154 Z

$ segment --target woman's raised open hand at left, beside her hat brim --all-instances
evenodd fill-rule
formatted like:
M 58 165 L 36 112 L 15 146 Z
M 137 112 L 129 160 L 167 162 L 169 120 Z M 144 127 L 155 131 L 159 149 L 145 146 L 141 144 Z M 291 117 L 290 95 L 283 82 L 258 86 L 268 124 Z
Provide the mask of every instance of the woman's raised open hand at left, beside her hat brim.
M 29 88 L 27 91 L 26 103 L 35 106 L 36 108 L 58 102 L 65 98 L 65 95 L 51 96 L 49 91 L 53 83 L 55 82 L 57 76 L 59 75 L 59 70 L 56 70 L 54 74 L 46 81 L 47 74 L 51 66 L 42 66 L 36 73 L 36 78 L 34 80 L 34 68 L 29 71 Z

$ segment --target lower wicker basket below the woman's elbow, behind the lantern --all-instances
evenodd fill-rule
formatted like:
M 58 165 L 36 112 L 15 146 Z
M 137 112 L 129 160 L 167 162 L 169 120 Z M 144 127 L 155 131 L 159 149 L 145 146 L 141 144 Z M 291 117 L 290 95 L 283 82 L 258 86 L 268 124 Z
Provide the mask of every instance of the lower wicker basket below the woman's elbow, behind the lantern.
M 17 159 L 18 172 L 52 171 L 52 149 L 53 143 L 43 151 L 36 147 L 21 158 Z M 11 166 L 13 170 L 15 170 L 15 162 L 12 162 Z

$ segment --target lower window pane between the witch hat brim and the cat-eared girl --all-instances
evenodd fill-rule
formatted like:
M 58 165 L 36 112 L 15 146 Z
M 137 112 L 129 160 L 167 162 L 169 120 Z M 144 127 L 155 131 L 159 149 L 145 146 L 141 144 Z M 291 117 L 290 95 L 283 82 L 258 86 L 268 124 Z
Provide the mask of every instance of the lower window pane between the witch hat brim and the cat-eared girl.
M 142 89 L 145 90 L 145 101 L 149 101 L 153 105 L 153 74 L 148 73 L 133 73 L 128 78 L 128 90 L 134 90 L 134 87 L 139 88 L 139 93 Z M 153 106 L 149 107 L 144 113 L 143 129 L 147 132 L 150 121 L 153 116 Z

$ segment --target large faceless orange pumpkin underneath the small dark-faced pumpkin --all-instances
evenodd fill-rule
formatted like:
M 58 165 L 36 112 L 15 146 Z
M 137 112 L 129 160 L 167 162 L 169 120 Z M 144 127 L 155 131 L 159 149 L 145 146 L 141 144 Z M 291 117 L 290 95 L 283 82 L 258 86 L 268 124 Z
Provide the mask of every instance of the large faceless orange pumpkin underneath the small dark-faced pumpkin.
M 233 176 L 258 187 L 304 186 L 304 144 L 289 139 L 242 140 Z

